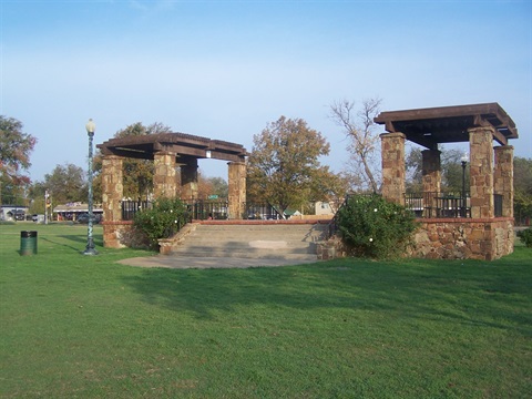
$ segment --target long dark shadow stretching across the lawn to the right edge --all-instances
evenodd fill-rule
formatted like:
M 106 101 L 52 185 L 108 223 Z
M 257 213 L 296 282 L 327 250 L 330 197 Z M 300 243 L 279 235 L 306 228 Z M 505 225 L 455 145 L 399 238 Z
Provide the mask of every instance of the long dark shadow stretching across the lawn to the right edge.
M 357 259 L 250 269 L 146 269 L 125 277 L 145 301 L 213 318 L 242 306 L 337 308 L 518 329 L 531 336 L 525 257 L 489 263 Z

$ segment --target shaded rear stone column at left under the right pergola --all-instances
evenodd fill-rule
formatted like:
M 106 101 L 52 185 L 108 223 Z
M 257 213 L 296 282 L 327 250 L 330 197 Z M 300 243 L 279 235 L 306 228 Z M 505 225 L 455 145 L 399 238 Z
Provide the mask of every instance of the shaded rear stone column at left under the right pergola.
M 441 151 L 424 150 L 422 155 L 423 216 L 436 216 L 437 197 L 441 190 Z

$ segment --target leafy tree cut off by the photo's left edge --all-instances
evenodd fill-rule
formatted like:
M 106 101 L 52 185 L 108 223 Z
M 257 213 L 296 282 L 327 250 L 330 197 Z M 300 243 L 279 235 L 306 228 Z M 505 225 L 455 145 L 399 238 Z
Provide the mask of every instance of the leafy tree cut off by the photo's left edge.
M 23 133 L 22 127 L 20 121 L 0 115 L 0 204 L 2 186 L 19 190 L 30 183 L 30 177 L 21 172 L 31 166 L 30 153 L 37 139 Z

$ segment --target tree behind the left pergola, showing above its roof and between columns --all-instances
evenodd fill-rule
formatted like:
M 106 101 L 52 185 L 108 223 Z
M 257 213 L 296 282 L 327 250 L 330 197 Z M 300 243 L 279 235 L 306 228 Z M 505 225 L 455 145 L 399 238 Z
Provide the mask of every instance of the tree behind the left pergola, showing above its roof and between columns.
M 114 139 L 140 136 L 147 134 L 171 133 L 172 129 L 160 122 L 144 126 L 141 122 L 133 123 L 114 134 Z M 102 168 L 101 154 L 94 160 L 95 174 L 100 174 Z M 123 163 L 123 185 L 124 196 L 132 200 L 150 197 L 153 192 L 154 165 L 151 160 L 124 158 Z M 101 193 L 101 178 L 95 178 L 94 192 Z M 95 195 L 96 196 L 96 195 Z

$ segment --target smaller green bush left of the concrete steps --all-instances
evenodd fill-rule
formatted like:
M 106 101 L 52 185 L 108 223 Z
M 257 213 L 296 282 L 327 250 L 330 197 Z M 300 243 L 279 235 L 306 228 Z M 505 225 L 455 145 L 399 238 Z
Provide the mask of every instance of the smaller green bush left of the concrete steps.
M 133 225 L 147 237 L 150 247 L 156 249 L 160 238 L 173 236 L 187 221 L 188 212 L 181 200 L 163 197 L 151 209 L 137 212 Z

